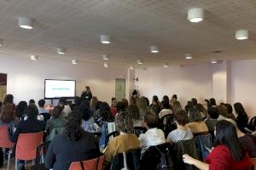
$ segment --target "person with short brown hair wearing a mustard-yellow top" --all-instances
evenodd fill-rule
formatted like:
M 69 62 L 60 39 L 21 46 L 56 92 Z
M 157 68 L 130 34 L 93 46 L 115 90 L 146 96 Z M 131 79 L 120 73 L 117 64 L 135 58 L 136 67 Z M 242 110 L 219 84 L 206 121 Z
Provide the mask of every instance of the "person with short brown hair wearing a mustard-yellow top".
M 132 149 L 139 149 L 140 146 L 137 136 L 132 133 L 133 119 L 128 112 L 120 112 L 115 118 L 115 123 L 120 135 L 108 142 L 104 152 L 104 164 L 106 167 L 108 167 L 113 157 L 117 154 Z

